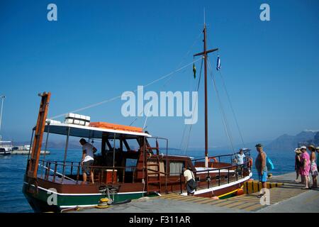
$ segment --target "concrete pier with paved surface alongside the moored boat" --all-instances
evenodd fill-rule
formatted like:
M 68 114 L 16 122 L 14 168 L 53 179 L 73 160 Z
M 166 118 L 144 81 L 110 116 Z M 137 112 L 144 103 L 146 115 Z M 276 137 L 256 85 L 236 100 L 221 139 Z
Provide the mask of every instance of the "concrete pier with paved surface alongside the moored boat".
M 72 212 L 89 213 L 218 213 L 218 212 L 319 212 L 319 190 L 301 189 L 295 182 L 296 174 L 274 176 L 270 182 L 283 183 L 269 189 L 269 203 L 261 203 L 258 192 L 229 199 L 210 199 L 180 194 L 163 194 L 157 197 L 135 199 L 127 204 L 111 205 L 106 209 L 86 208 Z

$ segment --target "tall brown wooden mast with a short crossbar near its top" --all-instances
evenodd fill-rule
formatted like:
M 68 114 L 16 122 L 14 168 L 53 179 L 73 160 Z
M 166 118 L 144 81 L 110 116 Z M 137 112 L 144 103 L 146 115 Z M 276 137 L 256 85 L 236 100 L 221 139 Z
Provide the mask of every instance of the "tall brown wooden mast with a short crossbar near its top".
M 207 104 L 207 54 L 218 50 L 218 48 L 207 50 L 206 40 L 206 23 L 203 28 L 203 52 L 198 52 L 195 56 L 203 56 L 204 59 L 204 73 L 205 73 L 205 167 L 208 167 L 208 104 Z

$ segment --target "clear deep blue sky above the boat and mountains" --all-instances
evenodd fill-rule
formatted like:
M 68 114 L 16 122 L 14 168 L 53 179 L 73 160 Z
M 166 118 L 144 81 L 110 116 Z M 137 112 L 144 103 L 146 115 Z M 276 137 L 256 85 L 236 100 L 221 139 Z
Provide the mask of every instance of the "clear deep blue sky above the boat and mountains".
M 58 21 L 47 21 L 50 3 L 57 4 Z M 259 20 L 262 3 L 269 4 L 271 21 Z M 2 0 L 0 94 L 7 98 L 1 135 L 29 140 L 38 92 L 52 92 L 49 116 L 56 116 L 137 89 L 191 62 L 202 51 L 203 8 L 208 48 L 220 48 L 223 78 L 245 141 L 319 129 L 318 1 Z M 215 66 L 216 53 L 210 60 Z M 216 77 L 234 143 L 240 143 Z M 145 90 L 192 91 L 198 80 L 189 67 L 165 82 Z M 122 104 L 118 99 L 79 114 L 130 124 L 135 118 L 121 115 Z M 227 145 L 209 78 L 208 108 L 209 145 Z M 203 83 L 198 111 L 191 147 L 204 145 Z M 138 118 L 133 125 L 144 121 Z M 147 130 L 179 147 L 184 118 L 149 118 Z

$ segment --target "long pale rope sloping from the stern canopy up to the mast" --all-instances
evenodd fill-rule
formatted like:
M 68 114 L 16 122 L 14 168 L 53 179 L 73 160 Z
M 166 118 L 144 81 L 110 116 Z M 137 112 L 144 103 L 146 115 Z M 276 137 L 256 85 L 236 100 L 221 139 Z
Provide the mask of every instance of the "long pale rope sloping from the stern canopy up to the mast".
M 162 76 L 162 77 L 159 77 L 159 79 L 155 79 L 154 81 L 152 81 L 152 82 L 150 82 L 150 83 L 148 83 L 148 84 L 145 84 L 145 85 L 143 85 L 142 87 L 145 88 L 145 87 L 148 87 L 148 86 L 150 86 L 150 85 L 152 85 L 152 84 L 155 84 L 156 82 L 159 82 L 160 80 L 165 79 L 165 78 L 169 77 L 169 76 L 172 75 L 172 74 L 175 74 L 175 73 L 177 73 L 177 72 L 179 72 L 179 71 L 181 71 L 181 70 L 184 70 L 186 67 L 189 67 L 190 65 L 194 64 L 194 62 L 197 62 L 198 60 L 201 60 L 201 58 L 198 58 L 197 60 L 194 60 L 194 61 L 190 62 L 189 64 L 184 65 L 183 67 L 180 67 L 180 68 L 177 69 L 177 70 L 174 70 L 174 71 L 172 71 L 172 72 L 169 72 L 169 74 L 166 74 L 166 75 L 164 75 L 164 76 Z M 135 89 L 133 92 L 138 92 L 138 90 L 139 90 L 139 89 Z M 73 111 L 69 111 L 69 112 L 67 112 L 67 113 L 65 113 L 65 114 L 59 114 L 59 115 L 57 115 L 57 116 L 52 116 L 52 117 L 50 117 L 50 118 L 48 118 L 48 119 L 51 119 L 51 120 L 52 120 L 52 119 L 56 119 L 56 118 L 60 118 L 60 117 L 62 117 L 62 116 L 65 116 L 66 114 L 69 114 L 69 113 L 76 113 L 76 112 L 79 112 L 79 111 L 84 111 L 84 110 L 86 110 L 86 109 L 91 109 L 92 107 L 99 106 L 99 105 L 101 105 L 101 104 L 106 104 L 106 103 L 108 103 L 108 102 L 110 102 L 110 101 L 114 101 L 114 100 L 116 100 L 116 99 L 120 99 L 121 96 L 123 96 L 123 94 L 118 95 L 118 96 L 114 96 L 114 97 L 111 98 L 111 99 L 106 99 L 106 100 L 104 100 L 104 101 L 100 101 L 100 102 L 98 102 L 98 103 L 96 103 L 96 104 L 91 104 L 91 105 L 89 105 L 89 106 L 85 106 L 85 107 L 82 107 L 82 108 L 80 108 L 80 109 L 75 109 L 75 110 L 73 110 Z

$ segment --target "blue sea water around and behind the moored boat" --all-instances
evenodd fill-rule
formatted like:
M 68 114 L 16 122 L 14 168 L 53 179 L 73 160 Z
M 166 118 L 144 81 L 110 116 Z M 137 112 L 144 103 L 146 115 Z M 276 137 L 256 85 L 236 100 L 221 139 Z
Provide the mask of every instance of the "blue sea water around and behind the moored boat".
M 294 153 L 292 151 L 265 150 L 265 152 L 274 163 L 275 169 L 272 170 L 273 175 L 282 175 L 294 171 Z M 229 153 L 229 151 L 216 151 L 209 155 L 224 155 Z M 187 153 L 180 150 L 171 150 L 169 154 L 189 155 L 194 158 L 203 157 L 203 151 L 199 150 L 189 150 Z M 252 150 L 251 155 L 253 160 L 255 160 L 257 151 Z M 63 160 L 63 157 L 64 150 L 50 149 L 50 155 L 46 155 L 45 160 Z M 68 150 L 67 160 L 79 161 L 81 157 L 81 150 Z M 27 159 L 28 155 L 0 155 L 0 212 L 33 212 L 22 193 L 23 175 L 26 172 Z M 43 159 L 43 155 L 40 156 L 40 159 Z M 223 162 L 224 160 L 220 161 Z M 229 162 L 230 160 L 225 161 Z M 257 179 L 254 167 L 252 172 L 252 178 Z

